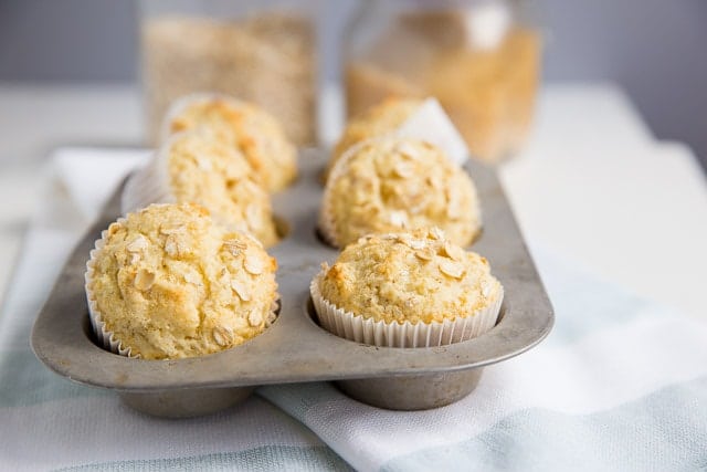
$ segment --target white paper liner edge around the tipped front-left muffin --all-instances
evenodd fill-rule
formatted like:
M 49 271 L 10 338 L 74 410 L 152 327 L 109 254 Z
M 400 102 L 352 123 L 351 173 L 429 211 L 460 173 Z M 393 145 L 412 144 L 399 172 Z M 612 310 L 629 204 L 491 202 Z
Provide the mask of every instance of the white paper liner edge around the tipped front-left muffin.
M 117 223 L 124 223 L 125 218 L 118 218 Z M 86 274 L 84 275 L 86 302 L 88 304 L 88 319 L 91 319 L 91 326 L 96 339 L 101 345 L 113 354 L 118 354 L 125 357 L 140 358 L 140 355 L 134 355 L 131 348 L 124 346 L 123 342 L 117 338 L 115 333 L 107 329 L 105 322 L 103 321 L 103 314 L 98 310 L 98 303 L 95 294 L 93 293 L 93 280 L 95 276 L 95 261 L 105 245 L 105 238 L 107 235 L 107 229 L 101 232 L 101 239 L 96 240 L 94 249 L 91 250 L 91 256 L 86 262 Z M 271 304 L 270 316 L 265 319 L 265 329 L 267 329 L 277 319 L 277 311 L 279 310 L 279 294 L 275 293 L 275 300 Z M 262 333 L 261 333 L 262 334 Z

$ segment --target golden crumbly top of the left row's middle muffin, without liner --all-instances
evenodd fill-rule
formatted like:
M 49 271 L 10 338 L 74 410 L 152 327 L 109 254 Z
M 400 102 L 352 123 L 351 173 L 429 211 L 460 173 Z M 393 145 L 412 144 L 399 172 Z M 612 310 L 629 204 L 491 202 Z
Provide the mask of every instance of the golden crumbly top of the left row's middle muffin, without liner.
M 255 235 L 266 248 L 278 240 L 270 195 L 243 155 L 199 128 L 166 148 L 170 190 L 178 202 L 199 203 L 222 224 Z

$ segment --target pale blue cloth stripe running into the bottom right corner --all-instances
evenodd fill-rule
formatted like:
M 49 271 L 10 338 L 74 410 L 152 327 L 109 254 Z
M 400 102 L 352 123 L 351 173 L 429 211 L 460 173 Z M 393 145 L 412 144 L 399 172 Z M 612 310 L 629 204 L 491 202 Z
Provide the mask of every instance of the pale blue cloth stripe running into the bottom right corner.
M 591 415 L 518 411 L 474 438 L 395 458 L 382 470 L 705 471 L 705 424 L 707 377 Z

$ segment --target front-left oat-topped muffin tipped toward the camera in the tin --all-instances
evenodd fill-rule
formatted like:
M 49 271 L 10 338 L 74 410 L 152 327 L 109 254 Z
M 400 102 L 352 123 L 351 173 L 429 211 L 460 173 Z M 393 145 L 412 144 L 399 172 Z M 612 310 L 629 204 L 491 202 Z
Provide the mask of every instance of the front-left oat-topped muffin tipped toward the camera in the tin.
M 86 271 L 105 346 L 144 359 L 218 353 L 274 319 L 275 259 L 191 203 L 152 204 L 112 223 Z

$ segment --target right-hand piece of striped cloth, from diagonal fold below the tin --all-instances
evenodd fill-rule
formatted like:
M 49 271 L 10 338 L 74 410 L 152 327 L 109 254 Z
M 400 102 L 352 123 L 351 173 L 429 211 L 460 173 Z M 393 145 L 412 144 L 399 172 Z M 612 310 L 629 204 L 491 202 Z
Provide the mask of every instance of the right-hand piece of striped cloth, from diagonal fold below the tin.
M 398 412 L 326 384 L 260 395 L 358 470 L 707 470 L 707 324 L 534 253 L 553 332 L 465 399 Z

